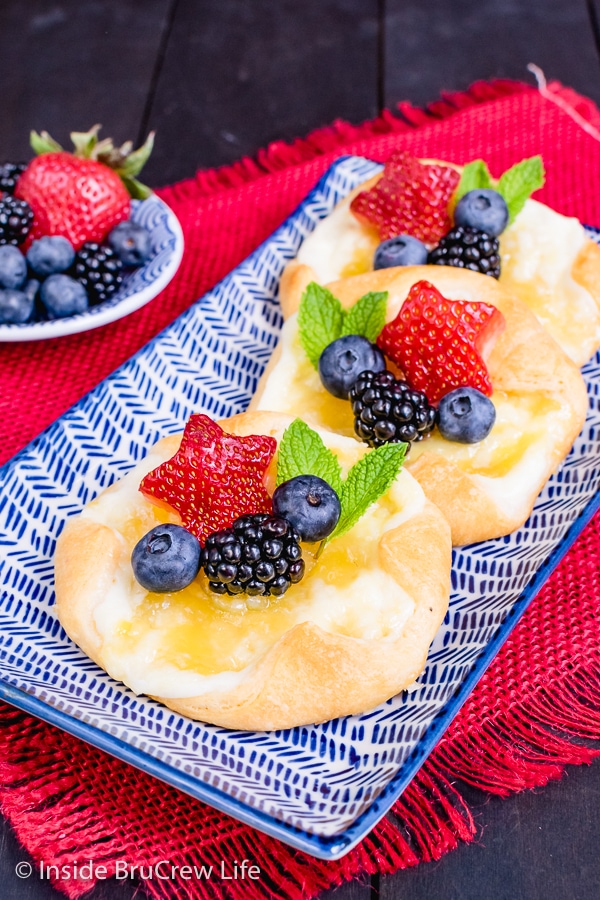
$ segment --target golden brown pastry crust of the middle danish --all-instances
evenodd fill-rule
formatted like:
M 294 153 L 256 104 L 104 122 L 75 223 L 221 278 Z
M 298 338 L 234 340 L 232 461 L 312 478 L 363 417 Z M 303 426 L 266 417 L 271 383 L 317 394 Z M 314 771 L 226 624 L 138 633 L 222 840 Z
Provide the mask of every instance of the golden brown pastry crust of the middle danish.
M 284 282 L 284 315 L 297 311 L 302 285 L 314 274 L 308 266 L 290 265 Z M 506 293 L 498 282 L 486 275 L 465 272 L 450 266 L 405 266 L 379 269 L 328 284 L 342 306 L 348 308 L 369 291 L 388 291 L 387 319 L 394 319 L 413 284 L 424 279 L 434 284 L 449 299 L 491 303 L 504 315 L 506 329 L 497 339 L 488 369 L 494 390 L 520 395 L 542 392 L 565 409 L 564 428 L 554 436 L 549 454 L 537 477 L 527 484 L 526 503 L 518 514 L 508 514 L 485 491 L 479 476 L 459 468 L 439 453 L 425 451 L 406 467 L 420 483 L 427 497 L 444 513 L 452 528 L 455 545 L 500 537 L 519 528 L 528 518 L 538 493 L 558 468 L 579 434 L 587 412 L 585 383 L 576 365 L 539 324 L 533 313 L 517 298 Z M 252 407 L 260 406 L 261 396 L 279 354 L 267 366 Z M 298 414 L 307 414 L 299 410 Z

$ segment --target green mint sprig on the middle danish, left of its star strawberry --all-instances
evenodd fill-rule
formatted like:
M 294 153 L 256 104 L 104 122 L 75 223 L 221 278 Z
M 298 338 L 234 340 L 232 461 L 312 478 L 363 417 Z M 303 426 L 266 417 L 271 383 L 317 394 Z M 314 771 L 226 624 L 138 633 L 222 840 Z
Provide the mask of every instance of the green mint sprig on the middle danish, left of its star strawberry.
M 311 281 L 300 301 L 298 332 L 315 369 L 325 347 L 343 335 L 359 334 L 374 342 L 385 325 L 387 298 L 387 291 L 372 291 L 346 312 L 331 291 Z

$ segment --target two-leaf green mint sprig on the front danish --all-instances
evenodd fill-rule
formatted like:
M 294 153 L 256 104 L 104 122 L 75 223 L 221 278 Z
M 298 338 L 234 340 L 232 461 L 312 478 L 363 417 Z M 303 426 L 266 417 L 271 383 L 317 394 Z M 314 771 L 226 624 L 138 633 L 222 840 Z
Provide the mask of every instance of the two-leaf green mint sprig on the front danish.
M 329 542 L 350 531 L 389 490 L 405 456 L 406 444 L 384 444 L 366 453 L 343 480 L 336 455 L 316 431 L 301 419 L 295 419 L 279 444 L 277 485 L 297 475 L 317 475 L 331 485 L 340 499 L 342 512 L 334 531 L 326 538 Z

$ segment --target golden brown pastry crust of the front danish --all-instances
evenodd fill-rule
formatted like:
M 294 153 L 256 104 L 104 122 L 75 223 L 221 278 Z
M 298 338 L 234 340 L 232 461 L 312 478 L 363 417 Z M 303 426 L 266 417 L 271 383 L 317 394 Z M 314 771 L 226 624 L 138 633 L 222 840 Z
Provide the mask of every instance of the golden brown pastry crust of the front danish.
M 257 412 L 221 424 L 230 433 L 268 434 L 282 419 L 291 421 L 281 414 Z M 162 448 L 166 458 L 178 442 L 177 437 L 167 438 L 157 449 Z M 140 495 L 140 503 L 145 502 Z M 364 712 L 403 690 L 422 671 L 448 605 L 450 533 L 436 507 L 424 500 L 417 515 L 385 532 L 379 559 L 415 602 L 414 614 L 395 640 L 333 634 L 306 622 L 277 640 L 237 687 L 156 699 L 193 719 L 271 730 Z M 130 565 L 129 552 L 118 532 L 86 519 L 85 512 L 69 520 L 56 549 L 57 613 L 69 636 L 103 667 L 104 639 L 94 613 L 125 565 Z

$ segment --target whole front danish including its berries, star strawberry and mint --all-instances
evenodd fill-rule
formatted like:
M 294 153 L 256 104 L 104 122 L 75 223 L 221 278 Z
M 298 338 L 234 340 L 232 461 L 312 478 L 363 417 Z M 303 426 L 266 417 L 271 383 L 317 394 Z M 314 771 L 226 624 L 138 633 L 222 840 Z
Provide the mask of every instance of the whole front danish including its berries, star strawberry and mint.
M 193 416 L 67 522 L 61 623 L 114 678 L 206 722 L 376 706 L 422 671 L 450 587 L 448 525 L 383 449 L 282 413 Z

